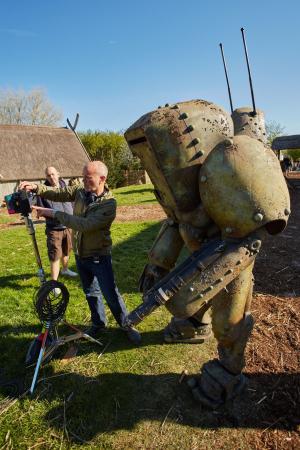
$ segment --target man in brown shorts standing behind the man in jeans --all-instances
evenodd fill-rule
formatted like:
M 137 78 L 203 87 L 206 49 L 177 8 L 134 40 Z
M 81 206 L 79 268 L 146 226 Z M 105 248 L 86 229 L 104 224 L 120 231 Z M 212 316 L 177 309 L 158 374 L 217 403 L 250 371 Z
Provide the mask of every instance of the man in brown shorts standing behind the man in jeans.
M 54 188 L 66 187 L 66 183 L 59 178 L 59 173 L 55 167 L 47 167 L 45 175 L 46 186 L 52 186 Z M 38 204 L 44 208 L 73 214 L 73 206 L 70 202 L 56 202 L 39 197 Z M 48 257 L 52 280 L 58 279 L 60 261 L 62 263 L 61 274 L 69 277 L 76 277 L 77 273 L 68 268 L 69 256 L 72 250 L 72 236 L 70 229 L 60 223 L 57 219 L 46 217 L 45 232 L 47 236 Z

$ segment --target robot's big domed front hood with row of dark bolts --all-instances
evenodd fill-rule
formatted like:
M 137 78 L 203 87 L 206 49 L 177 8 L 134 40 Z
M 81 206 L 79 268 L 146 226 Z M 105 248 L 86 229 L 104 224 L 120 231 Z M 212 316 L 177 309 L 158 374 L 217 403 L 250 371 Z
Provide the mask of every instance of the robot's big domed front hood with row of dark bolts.
M 170 211 L 190 211 L 199 204 L 199 168 L 219 142 L 232 136 L 229 114 L 204 100 L 166 105 L 145 114 L 125 132 L 171 216 Z

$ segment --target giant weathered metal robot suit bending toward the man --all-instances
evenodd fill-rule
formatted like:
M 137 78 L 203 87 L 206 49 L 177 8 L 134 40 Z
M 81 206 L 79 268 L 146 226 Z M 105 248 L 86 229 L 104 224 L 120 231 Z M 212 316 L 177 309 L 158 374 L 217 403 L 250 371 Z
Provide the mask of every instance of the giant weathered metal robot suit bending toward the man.
M 263 114 L 240 108 L 230 116 L 192 100 L 142 116 L 125 137 L 167 215 L 141 278 L 144 303 L 129 320 L 137 324 L 163 304 L 173 315 L 167 342 L 203 342 L 212 328 L 218 359 L 190 386 L 197 400 L 218 407 L 244 385 L 255 257 L 290 214 Z M 176 265 L 183 246 L 190 257 Z

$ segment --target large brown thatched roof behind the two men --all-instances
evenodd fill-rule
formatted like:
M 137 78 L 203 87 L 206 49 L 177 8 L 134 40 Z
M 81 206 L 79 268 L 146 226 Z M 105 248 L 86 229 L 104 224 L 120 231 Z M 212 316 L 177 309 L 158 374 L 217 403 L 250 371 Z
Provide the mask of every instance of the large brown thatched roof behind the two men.
M 78 177 L 89 157 L 68 128 L 0 125 L 0 182 L 40 180 L 54 166 L 62 177 Z

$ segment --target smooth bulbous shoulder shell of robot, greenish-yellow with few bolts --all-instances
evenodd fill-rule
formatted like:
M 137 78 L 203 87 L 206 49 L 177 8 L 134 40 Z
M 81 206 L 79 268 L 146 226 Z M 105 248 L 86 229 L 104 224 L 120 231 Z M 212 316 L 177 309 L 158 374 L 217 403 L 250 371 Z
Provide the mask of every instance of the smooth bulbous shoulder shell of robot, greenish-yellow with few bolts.
M 242 238 L 263 226 L 277 234 L 285 228 L 287 185 L 275 154 L 257 139 L 242 135 L 218 144 L 199 177 L 203 206 L 224 236 Z

